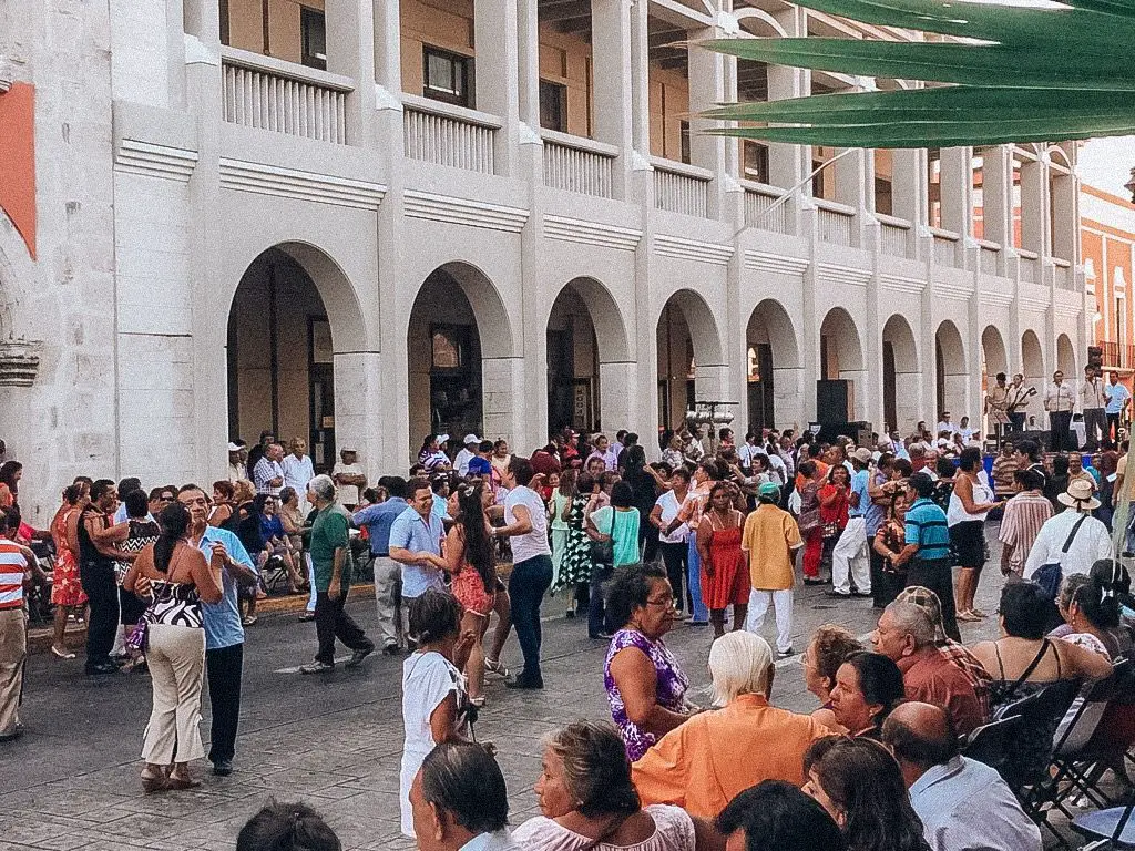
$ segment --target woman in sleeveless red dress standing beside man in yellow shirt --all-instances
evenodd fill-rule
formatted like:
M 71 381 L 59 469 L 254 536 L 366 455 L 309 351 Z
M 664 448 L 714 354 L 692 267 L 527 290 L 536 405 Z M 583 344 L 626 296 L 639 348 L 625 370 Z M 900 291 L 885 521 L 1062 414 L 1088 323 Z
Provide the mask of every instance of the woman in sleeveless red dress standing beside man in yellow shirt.
M 725 634 L 725 608 L 733 606 L 733 629 L 745 627 L 749 610 L 749 570 L 741 551 L 745 515 L 733 507 L 733 486 L 717 482 L 698 524 L 701 599 L 709 609 L 714 638 Z

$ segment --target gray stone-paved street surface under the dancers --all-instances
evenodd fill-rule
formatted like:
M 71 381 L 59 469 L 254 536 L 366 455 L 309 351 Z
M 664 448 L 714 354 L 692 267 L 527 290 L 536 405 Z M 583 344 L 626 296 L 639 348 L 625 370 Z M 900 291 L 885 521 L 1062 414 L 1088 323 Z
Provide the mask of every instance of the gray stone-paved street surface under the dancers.
M 992 531 L 992 529 L 990 530 Z M 978 605 L 993 612 L 1001 588 L 993 554 Z M 829 587 L 798 588 L 794 646 L 822 623 L 867 633 L 877 613 L 869 600 L 831 600 Z M 356 595 L 354 617 L 376 631 L 372 598 Z M 531 791 L 539 773 L 540 736 L 575 717 L 609 717 L 603 691 L 605 644 L 587 638 L 586 621 L 563 617 L 560 598 L 545 605 L 543 692 L 506 691 L 490 675 L 488 705 L 477 724 L 491 740 L 508 782 L 512 821 L 537 811 Z M 774 637 L 772 618 L 765 635 Z M 962 624 L 967 642 L 992 637 L 992 620 Z M 708 702 L 708 627 L 680 626 L 667 637 L 695 689 Z M 402 659 L 373 656 L 360 669 L 304 677 L 294 667 L 314 652 L 314 624 L 294 615 L 269 615 L 249 630 L 244 705 L 236 770 L 220 778 L 194 766 L 200 789 L 145 797 L 138 786 L 142 730 L 150 713 L 144 674 L 103 681 L 83 676 L 82 655 L 60 662 L 31 659 L 23 717 L 26 735 L 0 745 L 0 850 L 136 848 L 230 851 L 239 827 L 269 798 L 304 800 L 319 810 L 345 849 L 398 849 L 398 765 L 402 751 Z M 506 662 L 519 663 L 515 639 Z M 344 652 L 345 658 L 345 652 Z M 773 701 L 810 711 L 799 656 L 777 663 Z M 208 735 L 208 699 L 202 732 Z

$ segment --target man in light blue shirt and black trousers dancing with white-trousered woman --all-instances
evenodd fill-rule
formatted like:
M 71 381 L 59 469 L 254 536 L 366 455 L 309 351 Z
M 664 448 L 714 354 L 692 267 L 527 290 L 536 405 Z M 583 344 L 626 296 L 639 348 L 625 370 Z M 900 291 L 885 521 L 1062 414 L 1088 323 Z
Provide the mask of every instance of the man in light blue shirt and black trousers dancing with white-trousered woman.
M 190 509 L 190 541 L 207 559 L 217 553 L 225 562 L 220 603 L 201 605 L 205 627 L 205 675 L 212 708 L 209 761 L 213 764 L 213 774 L 225 777 L 233 773 L 244 669 L 244 626 L 236 591 L 238 585 L 255 584 L 257 567 L 239 538 L 227 529 L 208 524 L 209 505 L 201 488 L 186 485 L 178 491 L 177 502 Z

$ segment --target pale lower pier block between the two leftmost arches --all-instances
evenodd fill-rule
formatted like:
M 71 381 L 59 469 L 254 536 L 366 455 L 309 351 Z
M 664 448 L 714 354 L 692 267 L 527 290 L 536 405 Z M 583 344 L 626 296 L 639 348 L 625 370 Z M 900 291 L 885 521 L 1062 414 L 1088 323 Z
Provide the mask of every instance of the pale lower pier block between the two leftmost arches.
M 339 447 L 359 449 L 359 460 L 367 471 L 367 481 L 405 465 L 403 458 L 389 466 L 396 439 L 382 428 L 382 407 L 387 404 L 382 388 L 382 359 L 378 352 L 336 352 L 335 370 L 335 443 Z

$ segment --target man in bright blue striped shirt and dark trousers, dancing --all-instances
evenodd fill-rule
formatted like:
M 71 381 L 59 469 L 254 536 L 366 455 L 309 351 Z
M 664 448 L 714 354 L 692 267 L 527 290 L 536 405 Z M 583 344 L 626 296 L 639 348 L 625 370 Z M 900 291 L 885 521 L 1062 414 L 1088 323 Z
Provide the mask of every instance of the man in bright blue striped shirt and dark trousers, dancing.
M 953 556 L 945 512 L 931 500 L 934 480 L 926 473 L 915 473 L 907 480 L 906 546 L 894 559 L 894 566 L 906 565 L 907 588 L 922 585 L 938 595 L 942 604 L 942 626 L 945 634 L 961 641 L 957 609 L 953 604 Z

